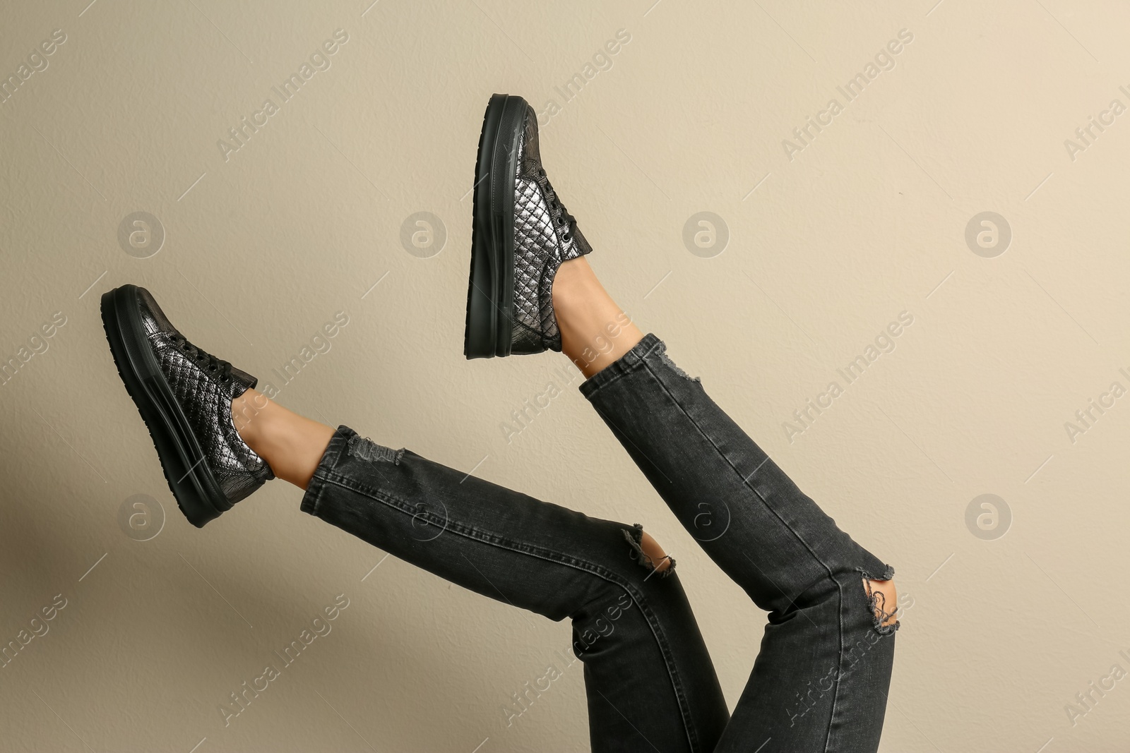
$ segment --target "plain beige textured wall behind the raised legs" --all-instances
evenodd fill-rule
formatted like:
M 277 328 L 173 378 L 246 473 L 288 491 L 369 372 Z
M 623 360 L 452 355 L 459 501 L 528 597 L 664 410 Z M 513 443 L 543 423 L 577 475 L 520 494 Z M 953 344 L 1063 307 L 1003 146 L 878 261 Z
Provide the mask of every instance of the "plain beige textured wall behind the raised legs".
M 503 712 L 567 648 L 567 624 L 383 561 L 281 482 L 203 531 L 182 518 L 98 319 L 98 296 L 125 282 L 263 379 L 347 312 L 284 404 L 643 522 L 679 559 L 738 698 L 762 614 L 579 380 L 565 388 L 567 362 L 461 356 L 467 192 L 493 91 L 556 100 L 544 154 L 607 287 L 897 568 L 910 608 L 883 750 L 1124 745 L 1130 397 L 1074 443 L 1064 428 L 1112 383 L 1130 388 L 1130 114 L 1075 159 L 1064 146 L 1112 99 L 1130 105 L 1124 3 L 87 2 L 0 17 L 5 77 L 54 29 L 67 40 L 0 105 L 0 357 L 55 312 L 67 322 L 0 386 L 0 641 L 66 599 L 0 668 L 0 747 L 586 748 L 580 664 L 512 727 Z M 225 161 L 217 140 L 334 29 L 348 42 L 331 67 Z M 566 100 L 556 87 L 618 29 L 631 41 Z M 901 29 L 913 41 L 893 70 L 790 160 L 782 140 L 843 104 L 836 87 Z M 119 245 L 134 211 L 166 233 L 148 259 Z M 446 234 L 427 259 L 400 240 L 419 211 Z M 729 230 L 713 257 L 683 240 L 699 211 Z M 1011 227 L 996 257 L 965 240 L 982 211 Z M 846 385 L 836 370 L 902 312 L 897 347 Z M 501 426 L 549 380 L 565 394 L 507 444 Z M 843 394 L 790 441 L 783 423 L 832 380 Z M 1003 518 L 994 539 L 966 524 L 984 493 L 1010 510 L 1003 536 Z M 167 514 L 149 541 L 119 524 L 133 494 Z M 332 632 L 225 727 L 219 703 L 338 594 Z

